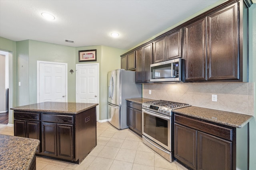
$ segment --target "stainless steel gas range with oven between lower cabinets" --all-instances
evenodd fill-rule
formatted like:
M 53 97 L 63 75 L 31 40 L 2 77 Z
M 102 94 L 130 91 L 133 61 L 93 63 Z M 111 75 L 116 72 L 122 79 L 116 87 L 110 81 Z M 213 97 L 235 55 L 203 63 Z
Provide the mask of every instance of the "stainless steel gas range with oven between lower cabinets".
M 172 109 L 189 104 L 154 100 L 142 104 L 142 141 L 172 162 Z

